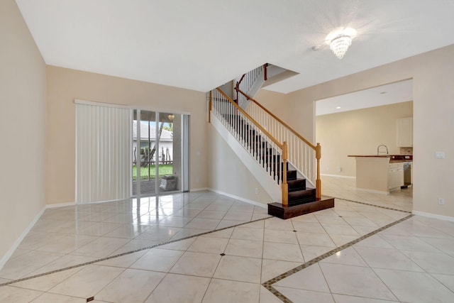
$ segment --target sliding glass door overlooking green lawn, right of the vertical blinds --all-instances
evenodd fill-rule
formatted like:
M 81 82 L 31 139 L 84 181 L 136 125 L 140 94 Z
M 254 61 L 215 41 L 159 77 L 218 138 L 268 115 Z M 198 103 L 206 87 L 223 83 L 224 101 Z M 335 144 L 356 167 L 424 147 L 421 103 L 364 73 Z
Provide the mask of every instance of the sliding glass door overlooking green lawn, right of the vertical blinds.
M 133 196 L 187 191 L 187 117 L 157 111 L 133 111 Z M 183 181 L 183 182 L 182 182 Z

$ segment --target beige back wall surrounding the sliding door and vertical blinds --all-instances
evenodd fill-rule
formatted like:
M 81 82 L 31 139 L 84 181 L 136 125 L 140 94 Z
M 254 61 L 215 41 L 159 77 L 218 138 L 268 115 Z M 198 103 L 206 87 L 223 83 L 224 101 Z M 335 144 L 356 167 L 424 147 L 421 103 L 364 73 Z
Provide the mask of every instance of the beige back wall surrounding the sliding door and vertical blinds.
M 206 96 L 202 92 L 48 66 L 48 204 L 74 202 L 74 99 L 191 114 L 190 188 L 207 186 Z

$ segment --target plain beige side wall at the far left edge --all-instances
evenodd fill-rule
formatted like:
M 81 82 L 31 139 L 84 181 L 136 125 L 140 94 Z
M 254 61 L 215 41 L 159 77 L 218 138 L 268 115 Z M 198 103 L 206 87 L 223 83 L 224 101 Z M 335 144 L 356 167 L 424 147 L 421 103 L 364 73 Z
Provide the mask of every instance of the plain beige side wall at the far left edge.
M 0 268 L 45 206 L 45 63 L 13 0 L 0 1 Z

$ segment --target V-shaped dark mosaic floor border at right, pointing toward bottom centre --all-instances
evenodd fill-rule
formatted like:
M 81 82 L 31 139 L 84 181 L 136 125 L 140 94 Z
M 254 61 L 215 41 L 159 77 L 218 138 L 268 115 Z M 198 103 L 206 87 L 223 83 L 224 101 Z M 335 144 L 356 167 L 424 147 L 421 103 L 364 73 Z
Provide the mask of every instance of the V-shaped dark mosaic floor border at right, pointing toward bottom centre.
M 336 198 L 336 199 L 340 199 L 340 198 Z M 351 201 L 351 202 L 355 202 L 355 201 Z M 358 202 L 358 203 L 365 204 L 365 203 L 362 203 L 362 202 Z M 369 205 L 369 204 L 367 204 L 367 205 Z M 372 205 L 372 206 L 375 206 L 375 205 Z M 377 206 L 377 207 L 380 207 L 380 206 Z M 382 207 L 382 208 L 389 209 L 387 207 Z M 396 209 L 393 209 L 393 210 L 396 210 Z M 408 212 L 408 211 L 404 211 L 404 212 Z M 409 216 L 406 216 L 406 217 L 404 217 L 402 219 L 399 219 L 399 220 L 394 221 L 394 222 L 392 222 L 390 224 L 382 226 L 382 227 L 376 229 L 375 231 L 367 233 L 364 236 L 361 236 L 360 238 L 357 238 L 357 239 L 355 239 L 353 241 L 345 243 L 343 246 L 339 246 L 337 248 L 334 248 L 333 250 L 328 251 L 328 253 L 324 253 L 323 255 L 320 255 L 319 257 L 316 257 L 316 258 L 314 258 L 312 260 L 309 260 L 308 262 L 306 262 L 306 263 L 304 263 L 302 265 L 297 266 L 296 268 L 293 268 L 292 270 L 284 272 L 282 275 L 278 275 L 277 277 L 273 277 L 271 280 L 267 280 L 267 282 L 262 283 L 262 286 L 265 287 L 270 292 L 272 292 L 272 294 L 274 294 L 276 297 L 281 299 L 282 302 L 292 303 L 292 300 L 290 300 L 287 297 L 285 297 L 284 294 L 282 294 L 279 291 L 277 291 L 275 289 L 275 287 L 272 287 L 272 285 L 275 284 L 276 282 L 279 282 L 280 280 L 282 280 L 282 279 L 284 279 L 286 277 L 289 277 L 289 276 L 293 275 L 294 273 L 297 273 L 297 272 L 299 272 L 301 270 L 304 270 L 304 268 L 308 268 L 309 266 L 314 265 L 315 263 L 319 263 L 321 260 L 323 260 L 325 258 L 328 258 L 329 256 L 334 255 L 335 253 L 338 253 L 339 251 L 344 250 L 345 248 L 349 248 L 350 246 L 353 246 L 354 244 L 364 240 L 365 238 L 369 238 L 370 236 L 373 236 L 376 233 L 380 233 L 380 231 L 384 231 L 385 229 L 387 229 L 387 228 L 389 228 L 391 226 L 399 224 L 402 221 L 405 221 L 406 219 L 411 218 L 412 216 L 413 216 L 413 214 L 410 214 Z

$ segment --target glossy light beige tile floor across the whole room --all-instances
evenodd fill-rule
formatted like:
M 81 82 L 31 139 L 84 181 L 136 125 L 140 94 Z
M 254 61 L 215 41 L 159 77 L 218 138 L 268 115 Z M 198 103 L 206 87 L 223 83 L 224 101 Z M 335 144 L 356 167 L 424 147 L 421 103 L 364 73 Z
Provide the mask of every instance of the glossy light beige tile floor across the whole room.
M 454 223 L 348 181 L 323 178 L 335 208 L 286 221 L 212 192 L 48 209 L 0 302 L 454 302 Z

